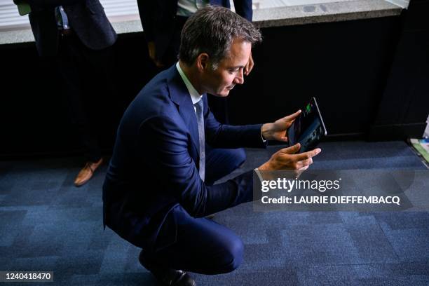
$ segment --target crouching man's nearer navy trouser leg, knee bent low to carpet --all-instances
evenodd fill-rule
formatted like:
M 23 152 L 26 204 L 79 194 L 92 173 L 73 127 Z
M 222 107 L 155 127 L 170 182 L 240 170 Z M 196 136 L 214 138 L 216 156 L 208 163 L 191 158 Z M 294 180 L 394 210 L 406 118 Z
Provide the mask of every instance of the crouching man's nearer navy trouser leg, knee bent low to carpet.
M 191 217 L 181 205 L 167 219 L 174 219 L 177 229 L 161 229 L 159 236 L 175 235 L 176 241 L 156 252 L 143 252 L 149 270 L 163 267 L 219 274 L 235 270 L 243 261 L 243 242 L 225 226 L 211 219 Z

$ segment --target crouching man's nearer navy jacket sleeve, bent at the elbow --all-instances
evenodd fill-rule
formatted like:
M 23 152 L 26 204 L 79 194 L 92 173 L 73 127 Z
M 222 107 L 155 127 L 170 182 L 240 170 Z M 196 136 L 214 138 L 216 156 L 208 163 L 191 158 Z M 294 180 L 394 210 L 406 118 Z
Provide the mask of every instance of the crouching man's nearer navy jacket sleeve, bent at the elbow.
M 158 189 L 176 196 L 193 217 L 203 217 L 252 200 L 252 171 L 223 184 L 206 186 L 189 154 L 189 134 L 168 116 L 149 118 L 140 125 L 143 163 L 154 170 Z M 222 166 L 219 166 L 222 168 Z

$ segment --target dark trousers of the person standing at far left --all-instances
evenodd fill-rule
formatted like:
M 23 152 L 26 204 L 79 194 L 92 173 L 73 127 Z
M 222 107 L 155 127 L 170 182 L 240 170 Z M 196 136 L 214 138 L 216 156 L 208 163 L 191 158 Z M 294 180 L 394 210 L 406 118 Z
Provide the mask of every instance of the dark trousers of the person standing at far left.
M 100 135 L 112 134 L 114 118 L 107 110 L 114 96 L 111 75 L 114 68 L 113 48 L 91 50 L 74 32 L 60 35 L 57 68 L 62 93 L 67 100 L 69 118 L 76 129 L 87 161 L 101 158 Z

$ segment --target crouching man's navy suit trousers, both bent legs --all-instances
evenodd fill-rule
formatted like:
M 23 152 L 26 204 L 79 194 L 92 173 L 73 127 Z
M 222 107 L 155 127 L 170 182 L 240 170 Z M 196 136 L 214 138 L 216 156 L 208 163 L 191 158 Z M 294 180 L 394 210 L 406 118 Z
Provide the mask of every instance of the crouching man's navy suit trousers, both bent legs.
M 243 149 L 206 149 L 206 178 L 212 184 L 236 170 L 245 161 Z M 176 233 L 176 241 L 161 250 L 144 250 L 144 266 L 167 267 L 203 274 L 228 273 L 243 260 L 243 242 L 226 226 L 205 217 L 191 217 L 181 205 L 168 214 L 175 226 L 163 225 L 158 236 Z M 165 228 L 175 227 L 176 232 Z M 160 238 L 163 240 L 163 238 Z

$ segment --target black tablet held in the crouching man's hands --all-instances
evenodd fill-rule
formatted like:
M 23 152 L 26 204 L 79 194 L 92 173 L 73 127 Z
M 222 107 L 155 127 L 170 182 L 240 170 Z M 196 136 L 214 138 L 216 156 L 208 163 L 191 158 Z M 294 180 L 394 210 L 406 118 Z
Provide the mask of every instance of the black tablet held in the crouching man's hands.
M 322 114 L 318 107 L 315 97 L 301 109 L 301 114 L 287 129 L 287 139 L 290 146 L 301 144 L 299 153 L 310 151 L 316 147 L 323 136 L 327 135 L 325 123 L 323 123 Z

